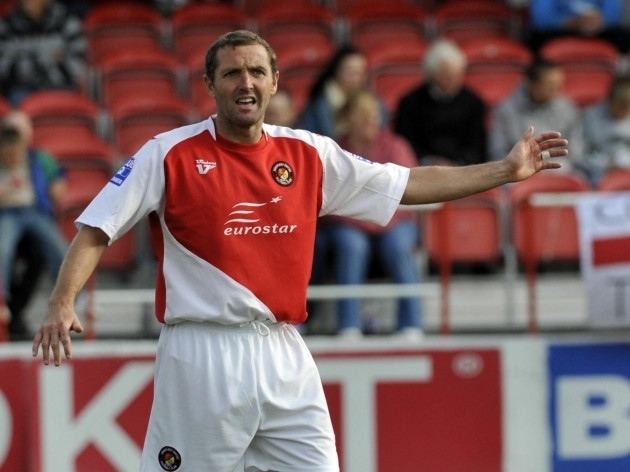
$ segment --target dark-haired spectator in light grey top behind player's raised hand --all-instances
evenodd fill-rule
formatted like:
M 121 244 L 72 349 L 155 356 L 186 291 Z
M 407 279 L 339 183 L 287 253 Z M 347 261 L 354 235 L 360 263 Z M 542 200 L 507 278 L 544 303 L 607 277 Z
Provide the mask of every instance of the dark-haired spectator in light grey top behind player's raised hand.
M 519 126 L 537 129 L 553 126 L 571 142 L 570 158 L 563 170 L 580 169 L 584 155 L 584 136 L 580 110 L 562 95 L 564 72 L 553 62 L 535 60 L 527 69 L 522 86 L 500 103 L 490 130 L 490 153 L 501 159 L 510 150 L 510 140 L 520 136 Z

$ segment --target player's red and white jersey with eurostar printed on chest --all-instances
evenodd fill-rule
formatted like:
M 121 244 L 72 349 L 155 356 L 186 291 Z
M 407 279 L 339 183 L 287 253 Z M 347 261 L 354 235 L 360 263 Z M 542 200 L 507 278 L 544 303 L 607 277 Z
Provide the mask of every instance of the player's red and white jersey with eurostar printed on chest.
M 386 224 L 409 170 L 371 163 L 307 131 L 264 125 L 227 141 L 212 118 L 147 142 L 77 219 L 115 241 L 159 223 L 160 321 L 303 322 L 318 216 Z

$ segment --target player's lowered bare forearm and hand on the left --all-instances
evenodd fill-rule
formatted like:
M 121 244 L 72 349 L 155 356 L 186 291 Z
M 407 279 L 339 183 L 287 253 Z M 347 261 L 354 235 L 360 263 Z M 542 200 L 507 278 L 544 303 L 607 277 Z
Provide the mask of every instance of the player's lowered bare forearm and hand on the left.
M 61 364 L 60 343 L 66 359 L 72 356 L 70 331 L 83 331 L 74 302 L 94 272 L 108 241 L 103 231 L 89 226 L 82 227 L 72 241 L 48 301 L 48 315 L 33 340 L 33 357 L 37 357 L 41 345 L 44 364 L 50 361 L 50 350 L 55 365 Z

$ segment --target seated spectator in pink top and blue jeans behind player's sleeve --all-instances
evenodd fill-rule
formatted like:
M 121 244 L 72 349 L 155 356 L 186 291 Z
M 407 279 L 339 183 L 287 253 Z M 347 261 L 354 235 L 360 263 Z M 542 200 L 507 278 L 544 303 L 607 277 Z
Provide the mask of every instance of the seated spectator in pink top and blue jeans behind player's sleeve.
M 378 98 L 368 91 L 350 95 L 340 111 L 340 120 L 347 132 L 340 145 L 375 162 L 416 165 L 413 151 L 400 137 L 382 129 Z M 320 273 L 328 248 L 334 254 L 335 282 L 361 284 L 367 277 L 368 263 L 376 254 L 387 272 L 397 283 L 419 281 L 414 249 L 418 226 L 413 212 L 396 213 L 385 227 L 351 218 L 327 217 L 318 225 L 314 272 Z M 316 275 L 317 276 L 317 275 Z M 361 303 L 356 299 L 340 300 L 337 304 L 338 330 L 341 335 L 361 334 Z M 422 334 L 420 330 L 420 299 L 403 298 L 398 303 L 398 328 L 406 335 Z

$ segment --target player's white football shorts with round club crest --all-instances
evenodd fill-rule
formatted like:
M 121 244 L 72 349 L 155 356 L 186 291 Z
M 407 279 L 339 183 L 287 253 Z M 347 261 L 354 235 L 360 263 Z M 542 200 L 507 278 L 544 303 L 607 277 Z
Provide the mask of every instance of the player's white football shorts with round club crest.
M 164 326 L 141 472 L 337 472 L 321 379 L 295 327 Z

